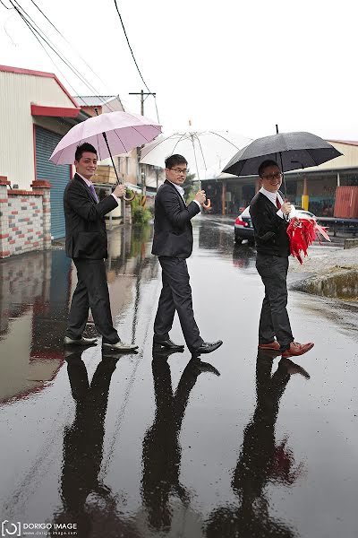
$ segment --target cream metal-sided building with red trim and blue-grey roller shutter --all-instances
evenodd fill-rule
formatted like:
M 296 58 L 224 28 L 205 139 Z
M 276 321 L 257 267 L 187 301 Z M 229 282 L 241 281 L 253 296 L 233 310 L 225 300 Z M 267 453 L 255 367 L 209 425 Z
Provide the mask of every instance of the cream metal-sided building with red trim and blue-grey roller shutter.
M 64 237 L 64 187 L 72 178 L 70 165 L 48 161 L 55 145 L 84 112 L 53 73 L 0 65 L 0 176 L 13 194 L 30 191 L 34 181 L 51 184 L 51 237 Z

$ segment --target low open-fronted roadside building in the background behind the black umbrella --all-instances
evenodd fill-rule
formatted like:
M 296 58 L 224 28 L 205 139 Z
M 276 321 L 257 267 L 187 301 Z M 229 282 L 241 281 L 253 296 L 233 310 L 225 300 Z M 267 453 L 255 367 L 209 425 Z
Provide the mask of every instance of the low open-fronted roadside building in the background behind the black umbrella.
M 287 172 L 287 197 L 297 207 L 304 207 L 320 217 L 333 216 L 337 187 L 358 186 L 358 142 L 329 140 L 343 153 L 333 161 L 308 169 Z M 213 212 L 241 213 L 260 188 L 258 176 L 238 178 L 221 174 L 203 182 L 211 198 Z

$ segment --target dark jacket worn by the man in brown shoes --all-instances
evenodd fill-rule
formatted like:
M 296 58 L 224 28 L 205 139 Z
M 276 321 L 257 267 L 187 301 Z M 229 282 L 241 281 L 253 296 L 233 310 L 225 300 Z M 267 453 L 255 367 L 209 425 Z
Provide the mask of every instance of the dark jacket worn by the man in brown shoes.
M 284 198 L 282 193 L 280 195 Z M 289 256 L 290 241 L 286 233 L 288 222 L 277 216 L 275 204 L 259 192 L 251 200 L 250 214 L 258 253 Z

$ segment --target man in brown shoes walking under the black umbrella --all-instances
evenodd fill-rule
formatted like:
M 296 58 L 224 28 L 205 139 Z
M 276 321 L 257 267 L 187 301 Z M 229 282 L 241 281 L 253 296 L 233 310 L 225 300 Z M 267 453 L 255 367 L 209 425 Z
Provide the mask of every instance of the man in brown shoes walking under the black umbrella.
M 250 214 L 257 248 L 256 268 L 265 286 L 259 325 L 259 348 L 303 355 L 313 343 L 294 342 L 288 318 L 287 271 L 290 243 L 286 233 L 292 207 L 278 191 L 282 173 L 275 161 L 259 168 L 262 187 L 251 201 Z

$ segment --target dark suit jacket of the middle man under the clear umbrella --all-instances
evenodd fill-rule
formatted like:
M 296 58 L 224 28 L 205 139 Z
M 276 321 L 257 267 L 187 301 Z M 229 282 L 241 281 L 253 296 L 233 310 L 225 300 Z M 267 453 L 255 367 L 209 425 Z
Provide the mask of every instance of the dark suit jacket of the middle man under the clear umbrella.
M 185 205 L 178 190 L 165 181 L 158 188 L 155 202 L 152 254 L 187 258 L 192 254 L 192 223 L 200 213 L 196 202 Z

